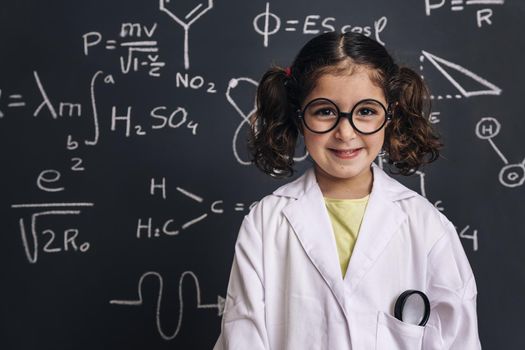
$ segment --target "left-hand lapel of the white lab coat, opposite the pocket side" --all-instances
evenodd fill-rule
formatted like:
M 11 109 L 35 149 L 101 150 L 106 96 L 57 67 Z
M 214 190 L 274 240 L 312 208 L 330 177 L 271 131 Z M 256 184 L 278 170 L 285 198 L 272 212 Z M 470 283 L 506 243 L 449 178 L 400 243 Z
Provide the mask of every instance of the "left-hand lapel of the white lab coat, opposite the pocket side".
M 313 170 L 310 169 L 300 181 L 296 182 L 296 186 L 302 187 L 304 192 L 298 195 L 296 201 L 284 208 L 284 215 L 308 258 L 344 311 L 344 285 L 332 225 Z

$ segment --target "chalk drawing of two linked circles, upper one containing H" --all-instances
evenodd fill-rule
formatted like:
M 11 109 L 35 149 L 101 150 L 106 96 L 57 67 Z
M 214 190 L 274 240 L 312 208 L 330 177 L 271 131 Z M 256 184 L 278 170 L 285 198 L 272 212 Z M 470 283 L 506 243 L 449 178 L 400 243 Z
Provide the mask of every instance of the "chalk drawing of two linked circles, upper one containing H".
M 496 137 L 501 130 L 501 124 L 496 118 L 485 117 L 481 118 L 476 124 L 476 136 L 482 140 L 487 140 L 494 149 L 494 152 L 501 158 L 505 164 L 501 168 L 498 179 L 505 187 L 518 187 L 523 185 L 525 180 L 525 158 L 521 163 L 509 164 L 507 158 L 499 150 L 492 139 Z

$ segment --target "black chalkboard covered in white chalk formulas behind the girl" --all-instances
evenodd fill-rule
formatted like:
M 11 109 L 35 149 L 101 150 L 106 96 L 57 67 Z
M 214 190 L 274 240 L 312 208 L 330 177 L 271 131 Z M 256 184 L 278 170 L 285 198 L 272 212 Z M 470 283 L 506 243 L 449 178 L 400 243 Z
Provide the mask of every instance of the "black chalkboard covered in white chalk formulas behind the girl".
M 324 31 L 419 70 L 485 349 L 524 349 L 521 1 L 3 1 L 2 349 L 210 349 L 250 206 L 257 80 Z M 297 150 L 297 175 L 311 166 Z

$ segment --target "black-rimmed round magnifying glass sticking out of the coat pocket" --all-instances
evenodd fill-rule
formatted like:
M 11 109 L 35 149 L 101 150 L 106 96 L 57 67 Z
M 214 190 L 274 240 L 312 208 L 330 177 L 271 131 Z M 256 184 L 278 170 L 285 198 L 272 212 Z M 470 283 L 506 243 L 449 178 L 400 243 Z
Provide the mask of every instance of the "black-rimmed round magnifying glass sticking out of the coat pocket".
M 410 324 L 426 325 L 430 317 L 428 297 L 419 290 L 404 291 L 396 300 L 394 316 L 398 320 Z

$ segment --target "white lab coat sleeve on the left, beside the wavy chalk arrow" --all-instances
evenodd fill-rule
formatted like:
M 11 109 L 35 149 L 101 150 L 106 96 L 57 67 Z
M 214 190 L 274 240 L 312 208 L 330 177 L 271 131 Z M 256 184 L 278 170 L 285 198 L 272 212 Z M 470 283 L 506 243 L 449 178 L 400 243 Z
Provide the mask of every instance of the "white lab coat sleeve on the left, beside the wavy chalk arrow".
M 214 350 L 268 349 L 262 239 L 252 215 L 243 220 L 228 283 L 221 334 Z

